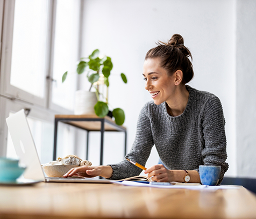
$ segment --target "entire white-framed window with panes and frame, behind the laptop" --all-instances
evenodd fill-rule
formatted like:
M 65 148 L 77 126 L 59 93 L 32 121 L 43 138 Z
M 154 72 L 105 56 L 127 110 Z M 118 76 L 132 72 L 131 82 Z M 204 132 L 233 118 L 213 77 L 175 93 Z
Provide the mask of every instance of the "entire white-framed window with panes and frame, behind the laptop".
M 30 108 L 31 132 L 41 163 L 53 156 L 54 114 L 72 113 L 81 45 L 80 0 L 0 0 L 0 156 L 15 157 L 5 118 Z M 1 11 L 3 8 L 3 11 Z M 0 34 L 1 36 L 1 34 Z M 75 128 L 59 127 L 58 155 L 75 152 Z

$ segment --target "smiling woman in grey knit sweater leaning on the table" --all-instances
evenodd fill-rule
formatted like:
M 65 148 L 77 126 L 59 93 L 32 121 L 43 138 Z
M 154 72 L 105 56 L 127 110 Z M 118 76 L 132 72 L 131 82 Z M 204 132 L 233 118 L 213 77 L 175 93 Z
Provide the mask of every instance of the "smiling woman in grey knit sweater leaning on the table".
M 186 85 L 194 76 L 191 53 L 181 35 L 159 42 L 145 57 L 145 89 L 153 101 L 141 109 L 136 138 L 125 158 L 145 165 L 153 145 L 162 164 L 145 173 L 155 181 L 200 182 L 199 166 L 221 166 L 222 181 L 228 169 L 225 120 L 221 101 L 209 92 Z M 107 166 L 82 166 L 63 177 L 102 176 L 123 179 L 141 172 L 127 160 Z

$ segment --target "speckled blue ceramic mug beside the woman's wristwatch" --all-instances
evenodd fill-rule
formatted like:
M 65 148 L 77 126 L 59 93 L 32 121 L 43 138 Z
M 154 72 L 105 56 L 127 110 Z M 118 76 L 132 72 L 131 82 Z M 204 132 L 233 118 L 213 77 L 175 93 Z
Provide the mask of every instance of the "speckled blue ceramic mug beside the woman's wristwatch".
M 218 184 L 221 166 L 199 166 L 200 180 L 203 185 L 215 186 Z

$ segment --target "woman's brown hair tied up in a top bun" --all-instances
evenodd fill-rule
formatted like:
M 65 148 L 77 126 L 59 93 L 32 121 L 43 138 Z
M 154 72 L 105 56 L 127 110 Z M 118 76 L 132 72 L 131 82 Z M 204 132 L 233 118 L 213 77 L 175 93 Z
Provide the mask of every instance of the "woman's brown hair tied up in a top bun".
M 146 59 L 160 58 L 162 68 L 166 69 L 169 76 L 175 71 L 181 70 L 183 73 L 182 83 L 186 84 L 194 76 L 193 65 L 189 60 L 193 60 L 189 49 L 184 46 L 184 40 L 180 34 L 174 34 L 168 42 L 157 43 L 157 47 L 148 50 Z

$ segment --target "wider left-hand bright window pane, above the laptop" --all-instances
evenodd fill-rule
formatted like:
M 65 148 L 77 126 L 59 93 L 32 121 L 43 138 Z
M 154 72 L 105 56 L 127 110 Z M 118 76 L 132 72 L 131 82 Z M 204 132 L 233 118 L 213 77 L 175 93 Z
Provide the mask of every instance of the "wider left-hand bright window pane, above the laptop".
M 16 0 L 13 24 L 10 84 L 40 98 L 46 95 L 48 3 Z

